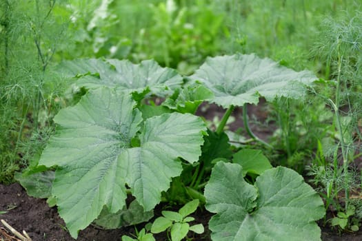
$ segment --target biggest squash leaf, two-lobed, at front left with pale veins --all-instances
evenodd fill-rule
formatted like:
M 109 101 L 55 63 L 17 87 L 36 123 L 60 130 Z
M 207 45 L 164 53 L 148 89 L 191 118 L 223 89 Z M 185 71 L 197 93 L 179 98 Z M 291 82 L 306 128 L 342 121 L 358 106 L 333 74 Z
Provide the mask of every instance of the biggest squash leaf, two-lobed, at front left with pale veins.
M 54 117 L 39 165 L 57 166 L 53 195 L 73 237 L 101 213 L 125 206 L 128 185 L 145 211 L 161 200 L 161 191 L 181 174 L 178 157 L 191 163 L 201 154 L 205 126 L 189 114 L 163 114 L 146 120 L 139 147 L 141 112 L 128 94 L 108 88 L 88 92 L 74 107 Z

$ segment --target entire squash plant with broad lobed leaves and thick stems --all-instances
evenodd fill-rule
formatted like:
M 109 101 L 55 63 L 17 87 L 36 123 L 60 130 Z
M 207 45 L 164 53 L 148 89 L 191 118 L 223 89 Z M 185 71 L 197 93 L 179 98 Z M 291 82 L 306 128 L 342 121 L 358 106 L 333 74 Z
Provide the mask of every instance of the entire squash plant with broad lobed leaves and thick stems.
M 310 72 L 294 72 L 254 54 L 208 58 L 188 77 L 154 61 L 116 59 L 66 61 L 61 72 L 75 77 L 87 93 L 54 117 L 57 130 L 37 169 L 55 170 L 45 193 L 72 237 L 92 222 L 108 228 L 144 222 L 162 198 L 182 193 L 199 198 L 212 212 L 232 213 L 212 218 L 213 240 L 275 240 L 283 233 L 301 240 L 309 232 L 310 240 L 318 239 L 314 220 L 323 217 L 321 198 L 294 171 L 272 169 L 260 151 L 233 155 L 223 132 L 236 106 L 256 104 L 259 96 L 299 98 L 303 86 L 316 79 Z M 165 101 L 149 105 L 152 96 Z M 216 132 L 194 115 L 203 101 L 228 109 Z M 26 182 L 34 173 L 18 178 L 29 192 L 42 182 L 50 187 L 39 174 L 37 184 Z M 260 175 L 256 187 L 243 179 L 250 173 Z

